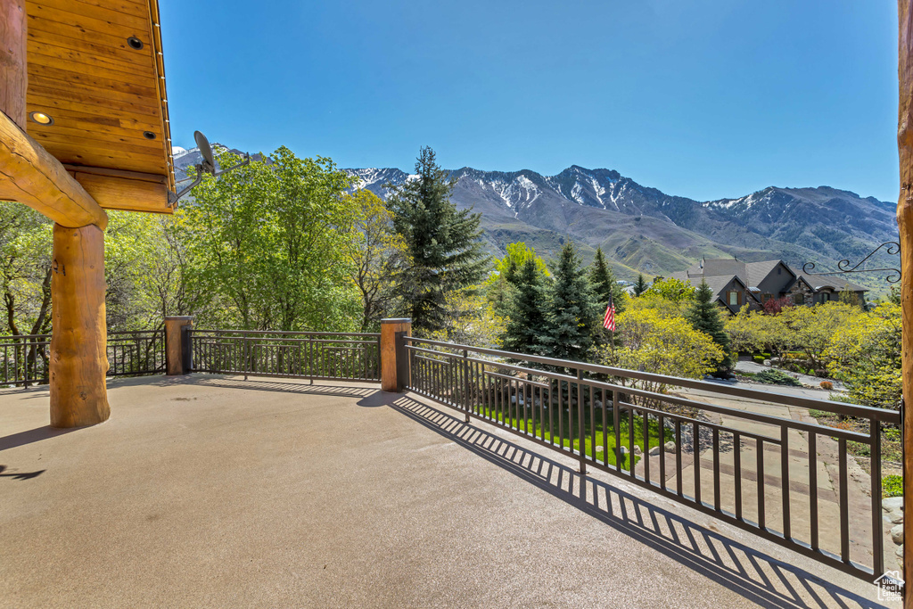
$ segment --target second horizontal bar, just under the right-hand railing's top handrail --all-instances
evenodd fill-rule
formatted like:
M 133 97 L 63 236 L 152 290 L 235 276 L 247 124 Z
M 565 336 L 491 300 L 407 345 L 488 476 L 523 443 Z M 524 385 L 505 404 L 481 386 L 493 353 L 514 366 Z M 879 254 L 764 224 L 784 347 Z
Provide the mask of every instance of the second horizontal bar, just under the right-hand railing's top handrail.
M 407 346 L 406 349 L 416 350 L 421 349 L 420 347 L 410 347 Z M 428 350 L 424 350 L 427 352 Z M 439 353 L 439 352 L 435 352 Z M 460 355 L 446 353 L 448 357 L 452 357 L 455 360 L 462 361 L 467 360 L 467 362 L 477 362 L 482 363 L 488 366 L 497 366 L 498 368 L 508 368 L 522 373 L 530 373 L 538 376 L 545 376 L 547 378 L 555 379 L 558 381 L 564 381 L 567 383 L 581 383 L 584 386 L 603 389 L 604 391 L 617 391 L 619 394 L 628 394 L 628 395 L 638 395 L 650 400 L 656 400 L 657 402 L 665 402 L 666 404 L 677 404 L 679 406 L 687 406 L 692 408 L 698 408 L 700 410 L 708 410 L 720 415 L 730 415 L 740 419 L 748 419 L 750 421 L 756 421 L 758 423 L 766 423 L 769 425 L 786 425 L 792 429 L 799 429 L 813 434 L 818 434 L 821 436 L 831 436 L 831 437 L 842 437 L 847 440 L 854 442 L 862 442 L 865 444 L 871 444 L 873 441 L 872 436 L 868 434 L 862 434 L 860 432 L 849 431 L 845 429 L 838 429 L 836 427 L 829 427 L 827 425 L 818 425 L 816 423 L 805 423 L 803 421 L 796 421 L 795 419 L 787 419 L 781 416 L 773 415 L 762 415 L 761 413 L 752 413 L 750 411 L 740 410 L 738 408 L 730 408 L 729 406 L 720 406 L 718 404 L 707 404 L 705 402 L 698 402 L 695 400 L 689 400 L 684 397 L 678 397 L 676 395 L 668 394 L 656 394 L 655 392 L 646 391 L 645 389 L 637 389 L 635 387 L 625 387 L 624 385 L 618 385 L 614 383 L 606 383 L 604 381 L 597 381 L 594 379 L 578 379 L 576 376 L 571 376 L 569 374 L 561 373 L 550 373 L 547 371 L 541 371 L 535 368 L 524 368 L 522 366 L 517 366 L 509 363 L 501 362 L 491 362 L 490 360 L 479 360 L 477 358 L 464 358 Z M 514 377 L 515 378 L 515 377 Z M 676 377 L 667 377 L 674 379 Z M 762 394 L 762 393 L 761 393 Z M 640 408 L 641 406 L 636 406 Z M 741 432 L 739 432 L 741 433 Z M 766 438 L 764 438 L 766 441 Z

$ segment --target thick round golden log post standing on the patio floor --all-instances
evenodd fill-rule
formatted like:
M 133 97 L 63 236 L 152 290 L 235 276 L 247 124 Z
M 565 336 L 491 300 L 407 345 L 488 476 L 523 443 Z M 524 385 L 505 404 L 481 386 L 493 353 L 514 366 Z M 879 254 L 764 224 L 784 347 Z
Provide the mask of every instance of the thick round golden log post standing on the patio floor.
M 98 226 L 54 225 L 51 263 L 51 425 L 108 419 L 105 245 Z

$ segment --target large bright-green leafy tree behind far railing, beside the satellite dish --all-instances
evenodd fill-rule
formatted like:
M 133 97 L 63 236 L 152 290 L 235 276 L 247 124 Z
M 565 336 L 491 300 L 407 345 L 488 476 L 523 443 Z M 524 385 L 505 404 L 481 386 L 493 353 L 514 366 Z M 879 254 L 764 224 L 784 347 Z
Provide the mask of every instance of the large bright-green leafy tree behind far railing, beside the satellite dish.
M 220 155 L 223 166 L 239 159 Z M 347 257 L 357 214 L 352 177 L 330 159 L 279 148 L 218 179 L 205 177 L 184 207 L 210 322 L 253 330 L 355 330 L 361 299 Z

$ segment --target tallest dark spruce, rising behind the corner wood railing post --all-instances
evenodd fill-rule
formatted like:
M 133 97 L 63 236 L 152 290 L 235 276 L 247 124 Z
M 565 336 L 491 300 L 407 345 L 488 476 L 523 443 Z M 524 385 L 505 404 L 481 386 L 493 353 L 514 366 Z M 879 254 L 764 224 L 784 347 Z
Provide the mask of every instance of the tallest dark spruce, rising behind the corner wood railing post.
M 415 163 L 418 178 L 388 184 L 387 205 L 403 236 L 412 265 L 396 288 L 418 334 L 439 331 L 456 315 L 447 296 L 485 277 L 489 257 L 479 241 L 481 214 L 459 211 L 450 201 L 453 182 L 424 147 Z

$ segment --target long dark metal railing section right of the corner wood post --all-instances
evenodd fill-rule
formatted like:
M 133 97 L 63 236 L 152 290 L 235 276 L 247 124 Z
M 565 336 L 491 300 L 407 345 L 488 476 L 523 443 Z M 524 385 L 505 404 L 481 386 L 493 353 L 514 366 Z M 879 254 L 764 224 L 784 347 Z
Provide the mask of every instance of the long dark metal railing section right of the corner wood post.
M 467 421 L 498 425 L 576 458 L 582 473 L 625 478 L 869 581 L 885 571 L 880 430 L 899 424 L 895 411 L 403 341 L 408 389 Z M 868 433 L 818 425 L 809 409 L 864 419 Z M 853 442 L 869 447 L 870 488 L 850 479 Z M 851 519 L 860 503 L 866 518 Z

